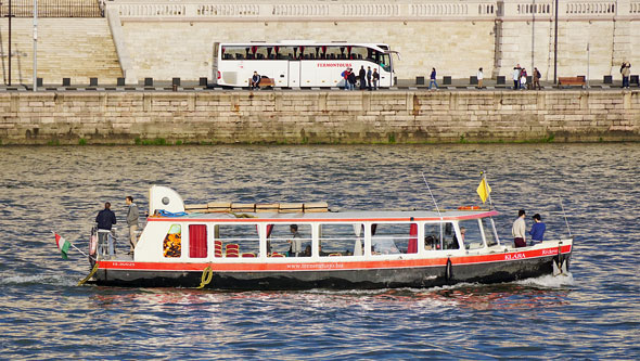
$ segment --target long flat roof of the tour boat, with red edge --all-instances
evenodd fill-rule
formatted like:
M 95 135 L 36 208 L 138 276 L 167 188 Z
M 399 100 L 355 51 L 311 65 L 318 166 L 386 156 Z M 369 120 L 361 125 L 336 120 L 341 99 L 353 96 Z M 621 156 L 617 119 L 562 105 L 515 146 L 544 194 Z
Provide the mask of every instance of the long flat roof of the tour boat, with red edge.
M 179 217 L 152 216 L 150 221 L 240 221 L 240 222 L 385 222 L 385 221 L 440 221 L 465 220 L 497 216 L 498 211 L 478 210 L 362 210 L 328 212 L 192 212 Z

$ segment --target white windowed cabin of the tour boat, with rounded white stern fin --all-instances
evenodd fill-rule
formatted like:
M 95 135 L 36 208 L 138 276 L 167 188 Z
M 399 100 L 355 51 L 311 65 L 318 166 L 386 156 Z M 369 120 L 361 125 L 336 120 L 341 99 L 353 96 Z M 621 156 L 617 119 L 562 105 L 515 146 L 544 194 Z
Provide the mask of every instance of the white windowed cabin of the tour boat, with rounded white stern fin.
M 155 216 L 135 261 L 327 263 L 441 258 L 499 245 L 492 210 L 187 214 L 172 190 L 150 192 Z

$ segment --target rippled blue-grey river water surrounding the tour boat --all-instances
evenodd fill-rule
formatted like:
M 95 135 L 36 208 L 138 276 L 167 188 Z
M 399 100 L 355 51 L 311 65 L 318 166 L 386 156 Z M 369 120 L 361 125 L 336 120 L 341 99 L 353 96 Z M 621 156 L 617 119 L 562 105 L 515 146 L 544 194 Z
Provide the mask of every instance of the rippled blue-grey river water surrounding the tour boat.
M 0 359 L 640 357 L 640 144 L 0 147 Z M 215 292 L 76 286 L 105 201 L 327 201 L 333 209 L 478 204 L 503 242 L 519 208 L 575 237 L 571 274 L 431 289 Z M 562 205 L 562 206 L 561 206 Z M 530 218 L 527 218 L 527 228 Z M 125 232 L 120 230 L 121 236 Z

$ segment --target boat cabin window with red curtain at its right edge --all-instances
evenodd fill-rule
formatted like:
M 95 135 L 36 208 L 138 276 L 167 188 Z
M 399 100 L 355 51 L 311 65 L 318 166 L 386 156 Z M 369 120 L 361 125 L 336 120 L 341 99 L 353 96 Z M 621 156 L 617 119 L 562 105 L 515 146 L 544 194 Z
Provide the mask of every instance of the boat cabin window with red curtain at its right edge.
M 372 255 L 418 253 L 418 224 L 377 223 L 371 227 Z

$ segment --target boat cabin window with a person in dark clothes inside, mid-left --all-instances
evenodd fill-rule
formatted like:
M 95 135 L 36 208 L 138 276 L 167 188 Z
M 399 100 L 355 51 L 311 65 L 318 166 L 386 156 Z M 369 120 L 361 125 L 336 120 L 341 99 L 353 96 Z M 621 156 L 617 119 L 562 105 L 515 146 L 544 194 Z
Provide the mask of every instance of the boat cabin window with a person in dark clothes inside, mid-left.
M 310 224 L 267 224 L 269 257 L 311 257 Z

